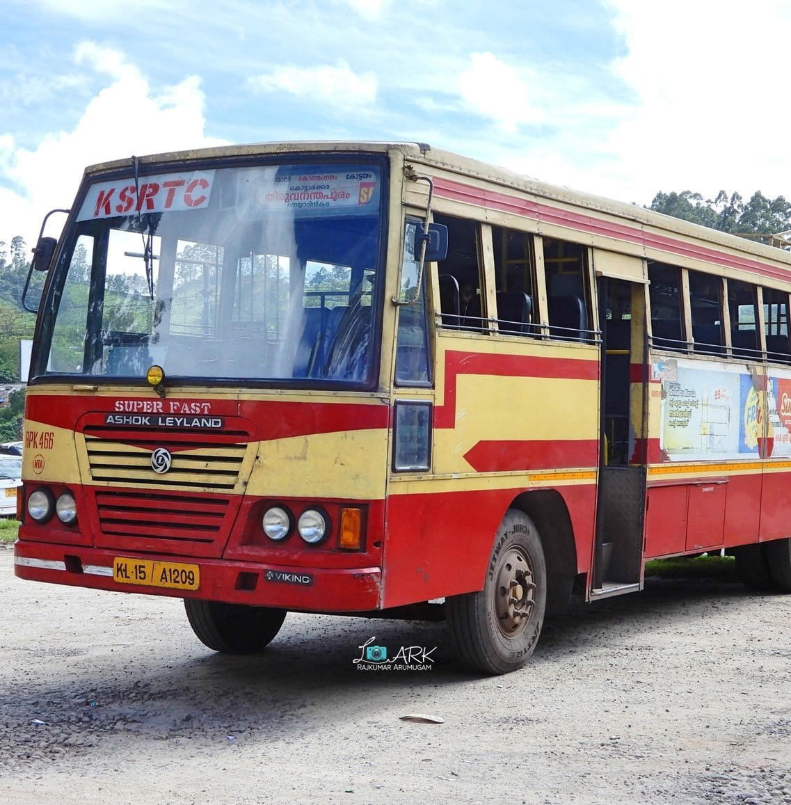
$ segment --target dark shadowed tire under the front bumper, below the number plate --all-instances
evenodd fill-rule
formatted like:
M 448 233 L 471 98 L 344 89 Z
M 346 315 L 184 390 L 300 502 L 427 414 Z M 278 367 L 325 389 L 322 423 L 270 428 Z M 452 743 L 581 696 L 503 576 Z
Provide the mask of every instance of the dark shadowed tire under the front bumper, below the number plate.
M 274 640 L 286 618 L 285 609 L 197 598 L 185 598 L 184 609 L 200 642 L 223 654 L 256 654 Z

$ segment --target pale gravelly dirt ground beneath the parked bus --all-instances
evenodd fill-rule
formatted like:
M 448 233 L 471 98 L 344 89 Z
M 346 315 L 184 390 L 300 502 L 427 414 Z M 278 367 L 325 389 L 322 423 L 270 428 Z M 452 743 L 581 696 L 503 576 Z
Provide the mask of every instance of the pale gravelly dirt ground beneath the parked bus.
M 649 579 L 488 679 L 438 623 L 291 613 L 220 656 L 179 600 L 18 580 L 10 547 L 0 601 L 2 803 L 791 803 L 791 597 Z M 359 670 L 372 637 L 430 670 Z

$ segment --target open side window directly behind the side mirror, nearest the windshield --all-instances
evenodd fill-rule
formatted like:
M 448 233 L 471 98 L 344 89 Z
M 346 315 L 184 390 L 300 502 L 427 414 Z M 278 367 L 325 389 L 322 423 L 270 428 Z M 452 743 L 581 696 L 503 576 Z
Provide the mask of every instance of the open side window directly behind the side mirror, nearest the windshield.
M 435 213 L 447 226 L 447 258 L 439 264 L 440 324 L 488 332 L 481 289 L 480 225 L 466 218 Z

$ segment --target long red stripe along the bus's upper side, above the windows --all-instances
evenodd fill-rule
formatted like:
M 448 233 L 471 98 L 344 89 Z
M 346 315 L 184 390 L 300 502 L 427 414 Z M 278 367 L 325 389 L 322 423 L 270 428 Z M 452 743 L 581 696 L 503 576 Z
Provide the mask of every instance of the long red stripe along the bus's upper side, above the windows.
M 612 221 L 603 221 L 584 213 L 575 213 L 571 210 L 550 207 L 530 199 L 521 199 L 509 196 L 506 193 L 484 190 L 471 185 L 452 182 L 445 179 L 435 179 L 434 192 L 436 196 L 475 204 L 478 207 L 489 207 L 502 210 L 504 213 L 513 213 L 534 221 L 544 221 L 548 224 L 576 229 L 580 232 L 612 237 L 628 243 L 637 243 L 646 248 L 670 252 L 686 258 L 694 258 L 704 262 L 713 262 L 719 266 L 754 271 L 756 274 L 772 279 L 789 279 L 789 269 L 768 266 L 756 258 L 741 257 L 728 254 L 711 246 L 699 246 L 678 240 L 676 237 L 646 232 L 641 226 L 631 226 Z

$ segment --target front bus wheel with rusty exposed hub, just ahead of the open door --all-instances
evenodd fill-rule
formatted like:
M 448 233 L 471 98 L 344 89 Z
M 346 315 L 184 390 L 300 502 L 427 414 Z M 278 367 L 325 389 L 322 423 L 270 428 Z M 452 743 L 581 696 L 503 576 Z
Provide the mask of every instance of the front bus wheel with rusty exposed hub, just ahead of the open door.
M 447 600 L 451 642 L 464 666 L 485 675 L 521 668 L 546 609 L 546 559 L 534 522 L 509 509 L 497 529 L 480 592 Z

